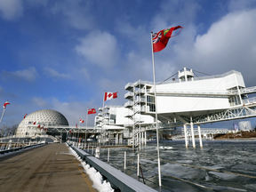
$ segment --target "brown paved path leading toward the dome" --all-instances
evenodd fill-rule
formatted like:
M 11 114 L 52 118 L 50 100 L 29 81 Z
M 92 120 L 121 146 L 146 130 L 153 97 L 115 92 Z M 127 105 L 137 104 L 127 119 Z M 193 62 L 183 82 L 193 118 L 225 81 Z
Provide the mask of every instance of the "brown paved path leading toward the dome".
M 1 156 L 1 155 L 0 155 Z M 1 192 L 97 191 L 65 143 L 0 157 Z

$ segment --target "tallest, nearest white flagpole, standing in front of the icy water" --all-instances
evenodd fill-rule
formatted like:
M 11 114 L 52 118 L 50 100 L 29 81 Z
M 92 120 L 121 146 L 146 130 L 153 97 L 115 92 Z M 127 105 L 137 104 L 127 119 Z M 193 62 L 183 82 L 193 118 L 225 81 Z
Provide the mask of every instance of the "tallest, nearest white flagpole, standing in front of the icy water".
M 158 139 L 158 119 L 157 119 L 157 105 L 156 105 L 156 72 L 155 72 L 155 59 L 154 59 L 154 49 L 153 49 L 153 32 L 151 32 L 151 46 L 152 46 L 152 61 L 153 61 L 153 75 L 154 75 L 154 90 L 155 90 L 155 108 L 156 108 L 156 143 L 157 143 L 157 159 L 158 159 L 158 177 L 159 186 L 161 183 L 161 167 L 160 167 L 160 155 L 159 155 L 159 139 Z

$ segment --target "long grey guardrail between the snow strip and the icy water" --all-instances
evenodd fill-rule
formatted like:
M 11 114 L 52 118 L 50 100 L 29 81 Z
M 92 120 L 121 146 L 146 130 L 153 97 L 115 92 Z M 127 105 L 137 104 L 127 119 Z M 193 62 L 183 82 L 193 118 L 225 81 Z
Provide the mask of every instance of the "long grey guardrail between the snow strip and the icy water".
M 144 185 L 138 180 L 134 180 L 132 177 L 124 174 L 124 172 L 120 172 L 109 164 L 106 164 L 100 161 L 100 159 L 84 152 L 84 150 L 71 146 L 70 144 L 68 144 L 68 146 L 73 148 L 78 156 L 80 156 L 87 164 L 90 164 L 92 167 L 94 167 L 94 169 L 100 172 L 100 174 L 106 177 L 112 185 L 121 191 L 156 192 L 155 189 L 149 188 L 147 185 Z

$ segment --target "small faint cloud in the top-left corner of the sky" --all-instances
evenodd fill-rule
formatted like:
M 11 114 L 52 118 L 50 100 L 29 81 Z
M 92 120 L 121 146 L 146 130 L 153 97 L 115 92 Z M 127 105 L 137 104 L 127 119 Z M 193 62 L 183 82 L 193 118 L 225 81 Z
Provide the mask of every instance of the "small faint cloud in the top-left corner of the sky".
M 4 20 L 16 20 L 23 16 L 21 0 L 0 0 L 0 15 Z

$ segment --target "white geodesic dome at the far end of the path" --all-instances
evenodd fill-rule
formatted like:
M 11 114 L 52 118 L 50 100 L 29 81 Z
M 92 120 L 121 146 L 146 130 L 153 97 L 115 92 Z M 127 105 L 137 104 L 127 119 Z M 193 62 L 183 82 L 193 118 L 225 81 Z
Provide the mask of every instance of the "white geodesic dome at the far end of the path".
M 35 122 L 36 124 L 34 124 Z M 68 120 L 58 111 L 52 109 L 38 110 L 29 114 L 20 122 L 16 135 L 36 136 L 36 134 L 46 134 L 44 129 L 37 128 L 39 124 L 44 126 L 44 128 L 54 125 L 68 125 Z

